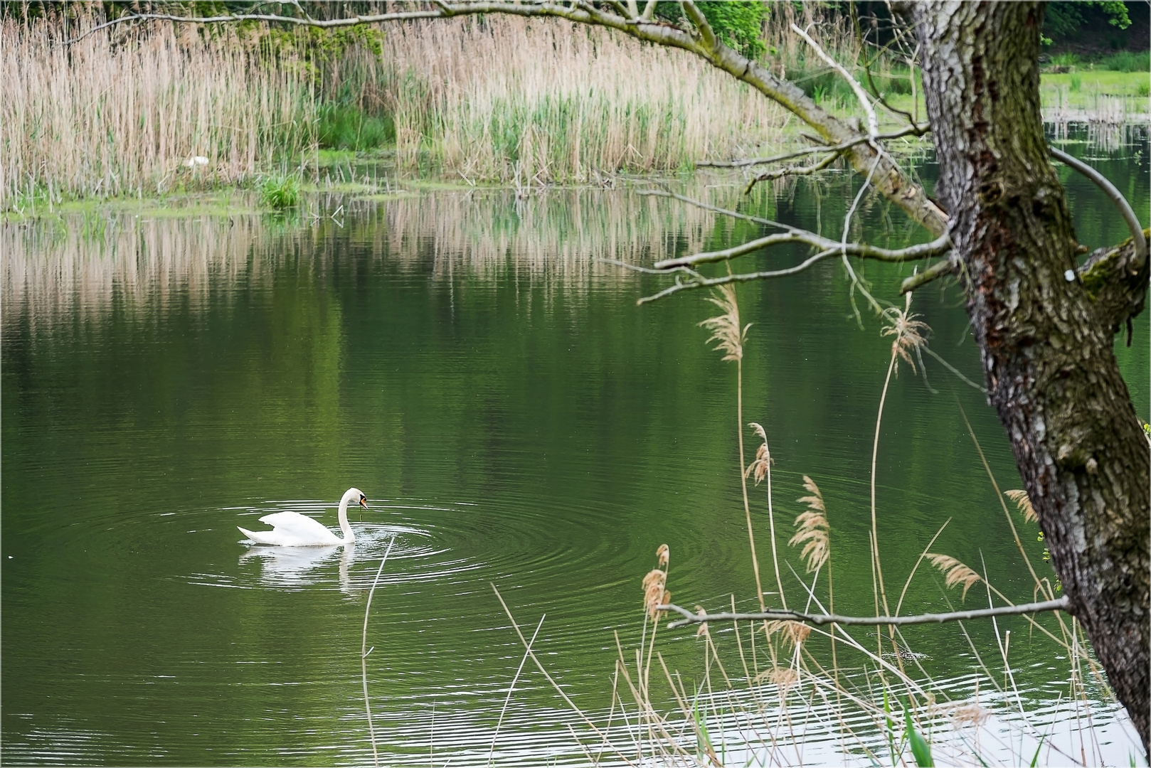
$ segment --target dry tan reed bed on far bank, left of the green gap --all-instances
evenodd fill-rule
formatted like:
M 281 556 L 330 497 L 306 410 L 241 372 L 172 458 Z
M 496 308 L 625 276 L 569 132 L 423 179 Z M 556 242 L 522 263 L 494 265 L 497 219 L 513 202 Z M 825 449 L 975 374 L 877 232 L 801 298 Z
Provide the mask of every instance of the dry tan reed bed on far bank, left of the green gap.
M 312 146 L 313 86 L 235 30 L 0 22 L 0 210 L 243 182 Z M 197 160 L 197 158 L 200 158 Z

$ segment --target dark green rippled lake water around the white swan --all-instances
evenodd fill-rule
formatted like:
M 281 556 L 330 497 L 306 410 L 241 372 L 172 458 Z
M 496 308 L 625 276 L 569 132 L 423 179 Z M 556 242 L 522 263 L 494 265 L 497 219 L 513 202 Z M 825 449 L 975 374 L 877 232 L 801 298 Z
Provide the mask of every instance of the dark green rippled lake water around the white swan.
M 1145 132 L 1107 151 L 1070 138 L 1146 216 Z M 918 172 L 930 181 L 930 166 Z M 1082 242 L 1127 237 L 1090 183 L 1061 173 Z M 686 189 L 734 205 L 739 184 L 717 176 Z M 838 237 L 848 184 L 764 189 L 744 210 Z M 624 694 L 625 721 L 611 695 L 616 633 L 634 674 L 640 580 L 656 547 L 670 546 L 668 587 L 686 607 L 722 610 L 734 595 L 752 609 L 755 586 L 735 368 L 698 326 L 717 312 L 702 292 L 638 307 L 666 280 L 596 259 L 646 265 L 760 231 L 642 197 L 642 187 L 524 200 L 498 190 L 319 197 L 308 200 L 318 219 L 2 225 L 3 761 L 372 765 L 361 632 L 389 543 L 367 636 L 381 765 L 601 754 L 610 763 L 622 760 L 616 748 L 638 760 L 633 701 Z M 914 234 L 882 201 L 866 203 L 859 220 L 856 236 L 872 243 Z M 755 258 L 784 266 L 799 254 Z M 909 267 L 863 271 L 877 295 L 899 301 Z M 806 474 L 832 527 L 836 610 L 872 611 L 869 477 L 890 340 L 862 302 L 859 327 L 834 263 L 744 286 L 739 298 L 753 324 L 744 419 L 765 427 L 776 458 L 791 604 L 805 603 L 785 563 L 803 573 L 787 539 Z M 931 349 L 981 382 L 958 288 L 923 289 L 913 309 L 931 326 Z M 1144 419 L 1149 339 L 1145 313 L 1134 345 L 1116 347 Z M 1006 491 L 1020 480 L 1003 429 L 980 390 L 924 362 L 925 379 L 904 366 L 892 380 L 883 416 L 877 515 L 889 594 L 950 520 L 931 550 L 1029 601 L 1031 577 L 963 413 Z M 745 440 L 750 458 L 757 441 L 750 431 Z M 285 509 L 335 526 L 349 486 L 371 505 L 352 514 L 355 548 L 252 547 L 236 530 Z M 764 486 L 753 487 L 752 510 L 773 590 Z M 1051 576 L 1034 524 L 1014 520 Z M 531 662 L 517 677 L 524 649 L 493 585 L 528 636 L 546 616 L 539 659 L 616 748 Z M 816 594 L 824 599 L 825 581 Z M 986 601 L 976 585 L 962 604 Z M 924 563 L 902 613 L 959 604 L 960 592 Z M 967 636 L 955 624 L 904 633 L 924 654 L 913 676 L 940 705 L 924 713 L 937 755 L 1029 762 L 1039 736 L 1044 765 L 1128 765 L 1141 754 L 1090 676 L 1091 721 L 1082 702 L 1068 705 L 1066 654 L 1023 618 L 965 626 Z M 769 664 L 762 642 L 745 675 L 731 628 L 711 631 L 737 691 L 702 708 L 725 760 L 869 765 L 867 750 L 886 748 L 869 722 L 845 739 L 803 686 L 783 707 L 770 683 L 749 691 L 746 677 Z M 867 632 L 855 636 L 874 647 Z M 830 661 L 825 640 L 807 646 L 811 660 Z M 695 691 L 704 653 L 694 630 L 661 628 L 656 649 Z M 841 649 L 838 663 L 867 687 L 871 661 Z M 676 710 L 658 671 L 653 698 Z M 787 720 L 803 700 L 802 722 Z M 984 715 L 965 723 L 948 700 L 977 702 Z

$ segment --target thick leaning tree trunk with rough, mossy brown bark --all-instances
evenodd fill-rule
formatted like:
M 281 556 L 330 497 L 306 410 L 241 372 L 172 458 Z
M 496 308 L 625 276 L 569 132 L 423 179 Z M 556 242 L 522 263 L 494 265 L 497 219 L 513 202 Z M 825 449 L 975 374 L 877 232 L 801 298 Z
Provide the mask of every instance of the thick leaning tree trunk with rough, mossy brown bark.
M 923 86 L 988 398 L 1108 680 L 1148 750 L 1151 454 L 1039 114 L 1038 2 L 918 2 Z M 1139 291 L 1145 290 L 1144 282 Z

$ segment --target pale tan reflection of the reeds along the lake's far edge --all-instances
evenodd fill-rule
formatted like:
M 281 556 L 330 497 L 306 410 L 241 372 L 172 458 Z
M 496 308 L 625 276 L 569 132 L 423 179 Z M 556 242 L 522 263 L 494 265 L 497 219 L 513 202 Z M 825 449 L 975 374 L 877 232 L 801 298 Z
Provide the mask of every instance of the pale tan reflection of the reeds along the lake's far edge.
M 300 253 L 300 268 L 323 269 L 334 258 L 331 239 L 341 236 L 329 230 L 401 268 L 424 269 L 430 259 L 435 280 L 511 275 L 576 297 L 593 279 L 634 280 L 596 259 L 648 263 L 699 250 L 714 221 L 707 211 L 628 190 L 561 190 L 524 200 L 491 190 L 360 203 L 343 230 L 330 220 L 284 226 L 254 215 L 0 225 L 0 317 L 8 324 L 26 314 L 33 326 L 76 311 L 96 318 L 114 297 L 129 307 L 162 310 L 178 296 L 200 310 L 216 294 L 226 301 L 242 280 L 270 286 L 285 253 Z M 305 244 L 284 246 L 298 241 Z

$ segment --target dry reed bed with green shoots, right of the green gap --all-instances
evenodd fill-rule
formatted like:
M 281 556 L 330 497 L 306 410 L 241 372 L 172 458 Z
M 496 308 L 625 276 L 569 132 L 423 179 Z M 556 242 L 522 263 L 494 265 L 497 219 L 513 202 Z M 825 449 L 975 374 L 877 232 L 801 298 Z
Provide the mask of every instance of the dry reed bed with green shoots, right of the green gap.
M 389 29 L 382 77 L 399 160 L 536 187 L 750 152 L 783 111 L 681 51 L 563 20 Z

